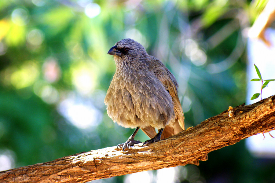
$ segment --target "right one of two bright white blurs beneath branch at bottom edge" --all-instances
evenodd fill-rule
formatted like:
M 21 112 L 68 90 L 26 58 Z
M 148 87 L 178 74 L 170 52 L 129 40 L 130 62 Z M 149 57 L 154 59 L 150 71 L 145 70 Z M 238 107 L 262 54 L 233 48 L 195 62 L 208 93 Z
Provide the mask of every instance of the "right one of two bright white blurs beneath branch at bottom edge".
M 175 167 L 157 170 L 156 178 L 158 183 L 174 183 L 176 178 Z

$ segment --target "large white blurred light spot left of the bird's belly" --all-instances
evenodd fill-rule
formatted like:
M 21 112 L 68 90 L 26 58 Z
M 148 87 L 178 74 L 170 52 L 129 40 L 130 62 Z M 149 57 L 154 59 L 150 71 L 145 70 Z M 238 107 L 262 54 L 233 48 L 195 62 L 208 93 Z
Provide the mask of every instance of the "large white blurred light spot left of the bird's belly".
M 84 101 L 74 95 L 63 100 L 58 106 L 58 111 L 72 125 L 81 129 L 98 125 L 102 118 L 101 112 L 91 102 Z

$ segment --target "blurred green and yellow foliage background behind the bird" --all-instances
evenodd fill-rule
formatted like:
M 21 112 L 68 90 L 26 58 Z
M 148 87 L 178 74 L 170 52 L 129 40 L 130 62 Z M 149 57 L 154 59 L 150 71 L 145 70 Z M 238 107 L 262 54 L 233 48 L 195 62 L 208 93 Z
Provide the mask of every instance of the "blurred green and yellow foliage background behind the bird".
M 1 0 L 0 155 L 9 157 L 7 167 L 126 141 L 133 130 L 113 123 L 104 106 L 115 72 L 107 51 L 123 38 L 140 42 L 176 76 L 186 128 L 244 103 L 244 30 L 265 4 Z M 274 161 L 251 157 L 244 141 L 209 153 L 198 168 L 202 182 L 275 181 Z

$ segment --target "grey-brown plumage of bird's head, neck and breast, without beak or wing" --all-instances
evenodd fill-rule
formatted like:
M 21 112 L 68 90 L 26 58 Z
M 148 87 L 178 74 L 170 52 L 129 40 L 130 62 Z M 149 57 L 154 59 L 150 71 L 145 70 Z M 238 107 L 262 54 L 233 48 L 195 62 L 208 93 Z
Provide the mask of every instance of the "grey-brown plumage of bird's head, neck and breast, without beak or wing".
M 105 97 L 108 115 L 124 127 L 164 128 L 175 119 L 173 101 L 148 70 L 150 56 L 138 42 L 123 39 L 116 46 L 127 46 L 130 51 L 114 56 L 116 72 Z

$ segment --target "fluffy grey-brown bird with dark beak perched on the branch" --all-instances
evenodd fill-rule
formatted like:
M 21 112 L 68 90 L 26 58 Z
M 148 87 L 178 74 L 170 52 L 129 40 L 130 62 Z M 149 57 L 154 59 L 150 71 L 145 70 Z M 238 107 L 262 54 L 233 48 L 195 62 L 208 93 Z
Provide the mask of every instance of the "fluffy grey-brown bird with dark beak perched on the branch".
M 116 42 L 108 54 L 114 57 L 116 71 L 104 100 L 107 114 L 120 126 L 136 128 L 117 148 L 125 153 L 125 148 L 141 143 L 134 140 L 139 129 L 151 138 L 142 146 L 182 132 L 178 82 L 165 65 L 130 38 Z

